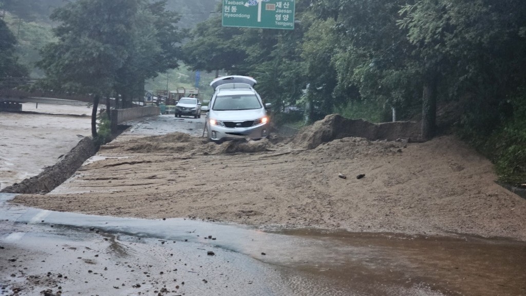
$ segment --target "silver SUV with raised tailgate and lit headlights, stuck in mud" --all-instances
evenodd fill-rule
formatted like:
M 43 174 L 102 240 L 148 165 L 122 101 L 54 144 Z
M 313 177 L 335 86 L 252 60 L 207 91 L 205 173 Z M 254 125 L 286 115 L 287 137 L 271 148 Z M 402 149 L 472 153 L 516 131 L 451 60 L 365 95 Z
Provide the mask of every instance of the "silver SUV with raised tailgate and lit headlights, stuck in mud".
M 210 83 L 214 95 L 203 111 L 206 116 L 208 138 L 213 141 L 268 136 L 269 119 L 259 94 L 252 88 L 256 80 L 247 76 L 219 77 Z

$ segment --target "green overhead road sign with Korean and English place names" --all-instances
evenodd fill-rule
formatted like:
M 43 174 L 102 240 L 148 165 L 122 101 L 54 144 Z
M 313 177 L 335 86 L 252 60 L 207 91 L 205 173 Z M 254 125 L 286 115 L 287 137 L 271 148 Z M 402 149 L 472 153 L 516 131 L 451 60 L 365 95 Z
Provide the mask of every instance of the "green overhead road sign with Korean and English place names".
M 294 29 L 295 0 L 222 0 L 223 26 Z

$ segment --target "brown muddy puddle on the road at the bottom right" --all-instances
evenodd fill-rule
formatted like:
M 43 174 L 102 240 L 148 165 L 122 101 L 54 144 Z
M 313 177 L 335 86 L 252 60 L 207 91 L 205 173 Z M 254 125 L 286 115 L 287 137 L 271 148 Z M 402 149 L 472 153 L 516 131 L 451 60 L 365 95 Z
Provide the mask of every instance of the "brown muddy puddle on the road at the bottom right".
M 308 261 L 289 264 L 291 270 L 360 295 L 412 295 L 415 288 L 419 290 L 415 295 L 526 295 L 524 242 L 472 236 L 285 233 L 326 244 L 301 254 Z

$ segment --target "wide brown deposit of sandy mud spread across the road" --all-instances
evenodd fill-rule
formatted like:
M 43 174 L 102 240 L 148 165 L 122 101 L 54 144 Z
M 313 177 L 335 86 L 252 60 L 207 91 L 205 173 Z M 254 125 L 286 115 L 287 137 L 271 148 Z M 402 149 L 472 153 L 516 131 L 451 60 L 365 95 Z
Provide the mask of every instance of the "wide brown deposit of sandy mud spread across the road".
M 338 117 L 327 116 L 290 142 L 218 145 L 182 133 L 116 141 L 99 151 L 103 160 L 81 167 L 52 193 L 14 201 L 262 228 L 526 240 L 526 201 L 495 184 L 492 164 L 454 136 L 371 141 L 349 136 Z

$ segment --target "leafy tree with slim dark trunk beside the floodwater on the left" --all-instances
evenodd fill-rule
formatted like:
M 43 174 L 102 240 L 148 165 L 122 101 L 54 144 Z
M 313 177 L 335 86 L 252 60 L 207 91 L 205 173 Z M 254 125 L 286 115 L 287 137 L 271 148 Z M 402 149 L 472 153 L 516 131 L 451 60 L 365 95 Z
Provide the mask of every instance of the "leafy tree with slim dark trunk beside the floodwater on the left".
M 96 114 L 100 97 L 109 94 L 116 74 L 129 56 L 138 2 L 126 0 L 80 0 L 57 8 L 51 19 L 57 43 L 46 46 L 38 64 L 52 86 L 94 96 L 92 135 L 97 137 Z

